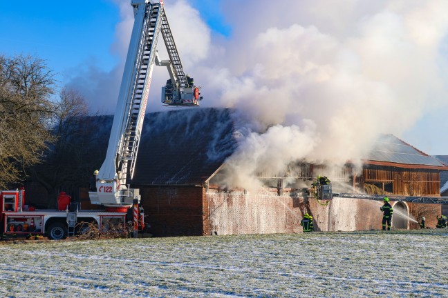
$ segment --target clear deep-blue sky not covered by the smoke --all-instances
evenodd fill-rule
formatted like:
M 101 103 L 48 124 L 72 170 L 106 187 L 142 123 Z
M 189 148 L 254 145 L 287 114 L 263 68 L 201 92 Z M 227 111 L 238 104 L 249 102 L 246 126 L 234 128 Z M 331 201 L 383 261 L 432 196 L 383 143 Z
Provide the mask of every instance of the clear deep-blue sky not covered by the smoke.
M 228 35 L 231 28 L 220 14 L 220 1 L 191 2 L 211 28 Z M 105 71 L 118 63 L 111 44 L 119 21 L 119 8 L 111 0 L 0 1 L 0 53 L 35 54 L 64 84 L 69 72 L 86 61 Z

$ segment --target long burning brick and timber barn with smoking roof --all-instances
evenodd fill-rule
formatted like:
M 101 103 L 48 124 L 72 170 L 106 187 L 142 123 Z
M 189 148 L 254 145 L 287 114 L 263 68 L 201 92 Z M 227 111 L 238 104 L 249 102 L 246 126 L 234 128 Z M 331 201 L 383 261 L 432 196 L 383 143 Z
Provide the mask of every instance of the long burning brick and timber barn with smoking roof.
M 335 198 L 317 201 L 308 195 L 313 177 L 326 168 L 297 163 L 283 173 L 260 174 L 266 186 L 253 193 L 220 188 L 228 170 L 225 160 L 237 147 L 233 111 L 219 108 L 174 110 L 147 115 L 136 173 L 142 205 L 156 237 L 300 232 L 304 212 L 322 231 L 371 230 L 381 227 L 381 202 Z M 362 171 L 346 163 L 333 178 L 335 190 L 377 195 L 440 197 L 438 159 L 393 135 L 382 135 L 362 159 Z M 325 175 L 325 174 L 324 174 Z M 336 183 L 338 182 L 338 183 Z M 338 189 L 337 186 L 341 186 Z M 344 187 L 342 187 L 344 186 Z M 403 213 L 398 228 L 417 228 L 413 218 L 427 217 L 435 226 L 440 204 L 394 202 Z

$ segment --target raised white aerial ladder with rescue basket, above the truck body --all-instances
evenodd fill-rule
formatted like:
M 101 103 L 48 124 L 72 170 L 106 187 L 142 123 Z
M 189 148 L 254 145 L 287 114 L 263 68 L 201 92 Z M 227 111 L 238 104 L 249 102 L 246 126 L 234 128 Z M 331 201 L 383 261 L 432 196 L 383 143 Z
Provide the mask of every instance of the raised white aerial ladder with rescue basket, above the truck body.
M 170 79 L 162 87 L 165 106 L 198 106 L 200 88 L 183 70 L 169 27 L 165 6 L 152 0 L 131 0 L 134 24 L 126 64 L 113 118 L 106 158 L 96 175 L 96 191 L 89 192 L 91 203 L 106 210 L 124 212 L 140 201 L 138 189 L 127 186 L 136 166 L 144 112 L 154 66 L 165 66 Z M 158 57 L 160 34 L 169 59 Z

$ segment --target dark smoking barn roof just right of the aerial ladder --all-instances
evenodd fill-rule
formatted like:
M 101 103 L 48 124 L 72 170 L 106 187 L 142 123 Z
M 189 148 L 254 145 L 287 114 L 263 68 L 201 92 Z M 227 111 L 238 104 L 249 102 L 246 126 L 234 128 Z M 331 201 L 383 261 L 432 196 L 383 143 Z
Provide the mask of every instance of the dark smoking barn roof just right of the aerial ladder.
M 190 108 L 147 114 L 131 183 L 204 183 L 235 148 L 229 109 Z

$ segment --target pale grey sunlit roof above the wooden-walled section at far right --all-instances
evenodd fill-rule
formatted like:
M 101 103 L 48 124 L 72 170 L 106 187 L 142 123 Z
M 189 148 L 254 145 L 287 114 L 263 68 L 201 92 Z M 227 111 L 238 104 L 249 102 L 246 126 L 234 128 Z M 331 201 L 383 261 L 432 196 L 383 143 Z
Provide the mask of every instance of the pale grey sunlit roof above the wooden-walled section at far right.
M 421 152 L 394 135 L 381 135 L 366 159 L 387 163 L 445 167 L 438 159 Z

